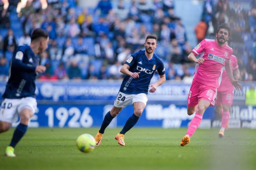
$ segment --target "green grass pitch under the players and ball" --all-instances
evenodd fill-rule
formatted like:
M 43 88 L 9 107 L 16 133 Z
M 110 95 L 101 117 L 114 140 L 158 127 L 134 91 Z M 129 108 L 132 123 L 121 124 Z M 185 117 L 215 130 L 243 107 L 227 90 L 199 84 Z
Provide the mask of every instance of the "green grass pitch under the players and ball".
M 0 170 L 255 170 L 256 130 L 229 129 L 218 139 L 218 129 L 198 129 L 182 147 L 182 129 L 133 128 L 126 146 L 114 139 L 120 129 L 106 129 L 92 153 L 76 148 L 83 133 L 98 128 L 29 128 L 16 146 L 16 158 L 4 156 L 14 129 L 0 134 Z

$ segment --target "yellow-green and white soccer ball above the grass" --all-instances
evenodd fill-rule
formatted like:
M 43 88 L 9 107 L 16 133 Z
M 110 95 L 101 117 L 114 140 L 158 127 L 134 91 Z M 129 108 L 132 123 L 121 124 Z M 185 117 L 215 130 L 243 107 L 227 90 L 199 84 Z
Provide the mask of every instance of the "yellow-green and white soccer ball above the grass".
M 92 135 L 90 135 L 88 133 L 81 134 L 76 139 L 76 146 L 82 152 L 91 152 L 91 151 L 93 151 L 95 145 L 96 145 L 95 139 L 93 138 Z

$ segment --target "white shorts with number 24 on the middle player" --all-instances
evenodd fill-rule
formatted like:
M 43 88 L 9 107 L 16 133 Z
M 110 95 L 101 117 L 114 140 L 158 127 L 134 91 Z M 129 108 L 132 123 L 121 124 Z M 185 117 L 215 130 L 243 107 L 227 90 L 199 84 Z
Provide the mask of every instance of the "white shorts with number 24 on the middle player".
M 145 93 L 125 94 L 122 92 L 118 92 L 118 95 L 114 102 L 114 107 L 126 107 L 128 104 L 130 104 L 131 101 L 132 104 L 134 102 L 143 102 L 145 105 L 147 105 L 147 95 Z

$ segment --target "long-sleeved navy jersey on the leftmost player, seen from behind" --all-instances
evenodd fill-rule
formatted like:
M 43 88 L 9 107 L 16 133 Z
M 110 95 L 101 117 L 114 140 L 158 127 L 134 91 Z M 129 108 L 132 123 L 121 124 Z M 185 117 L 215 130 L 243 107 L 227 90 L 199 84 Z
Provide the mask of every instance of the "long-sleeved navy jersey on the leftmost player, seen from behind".
M 14 51 L 3 98 L 35 97 L 35 69 L 38 62 L 39 58 L 35 56 L 29 46 L 19 46 Z

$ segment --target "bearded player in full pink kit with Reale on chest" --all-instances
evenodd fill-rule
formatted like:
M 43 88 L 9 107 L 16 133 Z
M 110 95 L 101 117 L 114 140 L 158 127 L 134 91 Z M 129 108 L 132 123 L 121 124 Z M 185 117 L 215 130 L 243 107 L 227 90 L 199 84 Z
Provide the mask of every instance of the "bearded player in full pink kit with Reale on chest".
M 189 143 L 190 137 L 195 133 L 202 121 L 204 111 L 210 105 L 214 105 L 217 88 L 221 82 L 223 66 L 225 66 L 232 85 L 242 90 L 240 81 L 233 78 L 231 71 L 230 58 L 233 50 L 226 44 L 229 35 L 230 28 L 228 24 L 221 24 L 216 33 L 216 40 L 202 40 L 188 56 L 190 61 L 197 63 L 187 100 L 188 114 L 195 113 L 195 117 L 190 122 L 187 133 L 180 142 L 181 146 Z M 195 56 L 199 54 L 201 55 L 197 59 Z

